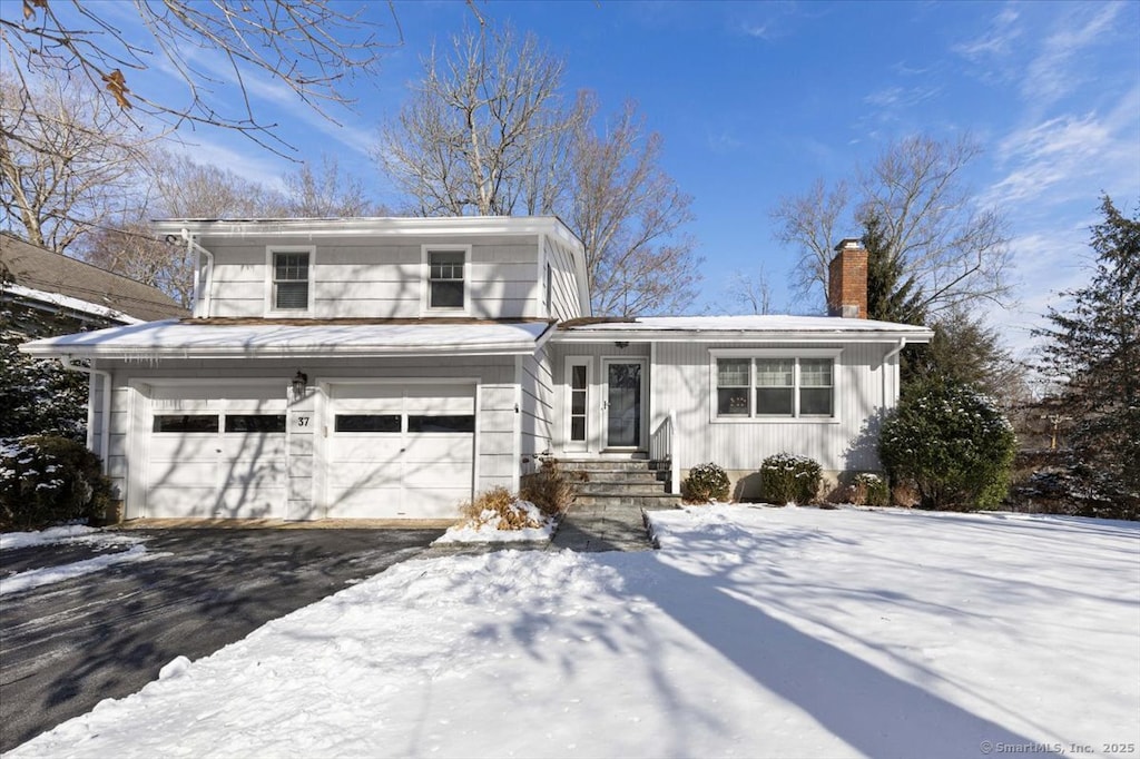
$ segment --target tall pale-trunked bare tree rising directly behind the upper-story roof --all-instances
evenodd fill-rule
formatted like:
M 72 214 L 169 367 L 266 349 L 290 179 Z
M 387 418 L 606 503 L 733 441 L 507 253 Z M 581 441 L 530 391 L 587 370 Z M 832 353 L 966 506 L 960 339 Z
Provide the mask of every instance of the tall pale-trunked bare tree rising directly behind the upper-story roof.
M 432 49 L 376 158 L 425 217 L 548 213 L 583 120 L 562 104 L 562 67 L 534 34 L 467 30 Z

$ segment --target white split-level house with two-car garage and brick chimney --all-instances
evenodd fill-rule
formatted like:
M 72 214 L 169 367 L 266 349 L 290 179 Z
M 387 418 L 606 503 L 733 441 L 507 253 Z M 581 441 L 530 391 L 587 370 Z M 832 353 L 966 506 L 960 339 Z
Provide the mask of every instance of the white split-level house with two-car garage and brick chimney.
M 22 348 L 89 361 L 127 519 L 451 516 L 543 455 L 873 471 L 898 352 L 931 336 L 852 318 L 850 240 L 832 277 L 848 316 L 593 319 L 555 218 L 155 228 L 197 255 L 192 318 Z

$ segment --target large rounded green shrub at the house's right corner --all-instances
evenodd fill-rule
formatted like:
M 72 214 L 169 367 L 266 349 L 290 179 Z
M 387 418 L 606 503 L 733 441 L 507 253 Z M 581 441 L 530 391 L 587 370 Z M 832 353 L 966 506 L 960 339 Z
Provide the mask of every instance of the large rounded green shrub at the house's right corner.
M 1016 439 L 997 407 L 972 387 L 922 382 L 882 425 L 879 457 L 910 482 L 922 508 L 994 508 L 1009 487 Z

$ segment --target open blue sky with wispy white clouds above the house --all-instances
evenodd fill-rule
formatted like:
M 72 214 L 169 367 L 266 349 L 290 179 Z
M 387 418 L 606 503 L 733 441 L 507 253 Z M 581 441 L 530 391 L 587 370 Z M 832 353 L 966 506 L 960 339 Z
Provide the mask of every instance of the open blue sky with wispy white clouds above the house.
M 1107 191 L 1140 203 L 1140 2 L 480 2 L 565 58 L 568 91 L 605 111 L 638 103 L 665 138 L 665 169 L 693 196 L 706 259 L 695 310 L 739 312 L 733 271 L 762 266 L 777 305 L 795 252 L 768 212 L 866 164 L 891 140 L 971 133 L 985 153 L 968 180 L 1010 222 L 1019 303 L 987 317 L 1015 348 L 1056 291 L 1086 277 L 1088 227 Z M 462 2 L 397 2 L 404 44 L 358 82 L 334 126 L 256 83 L 253 105 L 302 154 L 337 155 L 389 205 L 368 157 L 433 40 L 472 23 Z M 376 3 L 373 13 L 386 10 Z M 286 161 L 235 134 L 185 134 L 199 161 L 272 181 Z M 858 230 L 853 228 L 853 234 Z

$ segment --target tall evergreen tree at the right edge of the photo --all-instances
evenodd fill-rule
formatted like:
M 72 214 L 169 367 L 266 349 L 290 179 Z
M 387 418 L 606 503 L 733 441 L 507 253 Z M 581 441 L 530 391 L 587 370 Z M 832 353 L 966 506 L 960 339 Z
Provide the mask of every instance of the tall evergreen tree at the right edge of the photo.
M 1070 305 L 1049 309 L 1042 372 L 1060 383 L 1061 407 L 1078 464 L 1101 496 L 1140 498 L 1140 217 L 1125 218 L 1106 195 L 1092 227 L 1092 280 L 1061 293 Z

